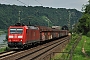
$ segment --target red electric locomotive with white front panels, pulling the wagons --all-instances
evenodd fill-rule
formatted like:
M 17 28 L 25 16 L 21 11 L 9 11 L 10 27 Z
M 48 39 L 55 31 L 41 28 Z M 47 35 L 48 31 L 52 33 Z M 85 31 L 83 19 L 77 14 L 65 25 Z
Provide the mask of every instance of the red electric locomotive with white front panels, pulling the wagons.
M 39 28 L 17 23 L 8 29 L 8 46 L 23 48 L 29 43 L 40 40 Z

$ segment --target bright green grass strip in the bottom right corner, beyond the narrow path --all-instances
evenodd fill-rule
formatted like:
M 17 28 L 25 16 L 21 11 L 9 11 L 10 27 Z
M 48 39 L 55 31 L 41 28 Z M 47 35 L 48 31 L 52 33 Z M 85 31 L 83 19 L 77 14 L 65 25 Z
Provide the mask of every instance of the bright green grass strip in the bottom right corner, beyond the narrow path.
M 86 55 L 82 52 L 84 48 Z M 90 37 L 82 36 L 81 41 L 75 49 L 73 60 L 90 60 Z

